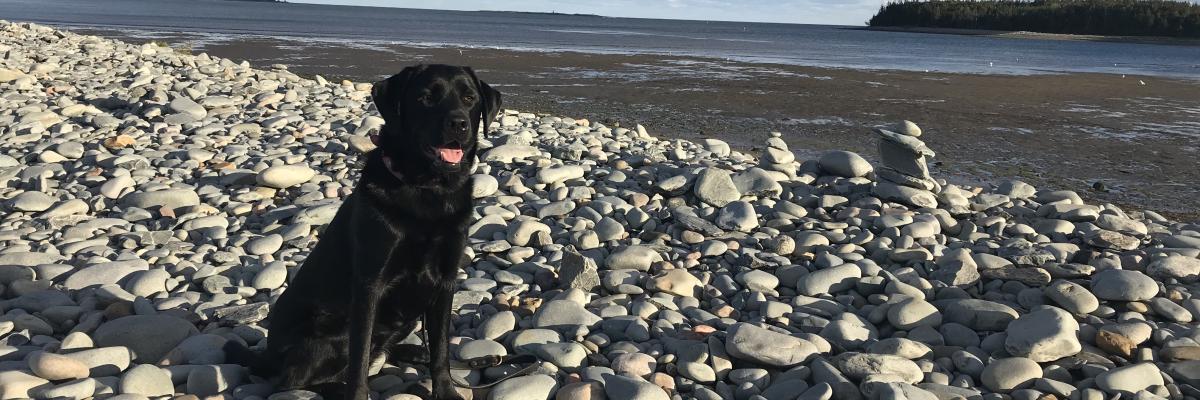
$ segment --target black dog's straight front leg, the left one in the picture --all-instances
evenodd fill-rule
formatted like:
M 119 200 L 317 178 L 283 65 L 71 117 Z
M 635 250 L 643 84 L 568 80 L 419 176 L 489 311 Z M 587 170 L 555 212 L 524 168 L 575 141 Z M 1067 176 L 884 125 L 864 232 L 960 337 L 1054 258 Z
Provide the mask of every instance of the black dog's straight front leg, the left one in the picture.
M 374 280 L 364 279 L 365 287 L 350 293 L 350 365 L 346 375 L 346 399 L 367 399 L 367 375 L 371 368 L 371 335 L 374 328 L 379 291 Z

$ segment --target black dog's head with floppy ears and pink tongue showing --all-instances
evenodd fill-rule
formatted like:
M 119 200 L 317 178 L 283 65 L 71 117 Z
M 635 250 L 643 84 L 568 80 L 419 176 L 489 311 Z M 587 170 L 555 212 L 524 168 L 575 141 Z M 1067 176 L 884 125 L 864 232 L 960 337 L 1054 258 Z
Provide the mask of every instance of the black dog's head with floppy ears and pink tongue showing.
M 406 67 L 377 82 L 371 97 L 385 121 L 379 150 L 401 174 L 469 171 L 480 127 L 500 111 L 500 92 L 463 66 Z

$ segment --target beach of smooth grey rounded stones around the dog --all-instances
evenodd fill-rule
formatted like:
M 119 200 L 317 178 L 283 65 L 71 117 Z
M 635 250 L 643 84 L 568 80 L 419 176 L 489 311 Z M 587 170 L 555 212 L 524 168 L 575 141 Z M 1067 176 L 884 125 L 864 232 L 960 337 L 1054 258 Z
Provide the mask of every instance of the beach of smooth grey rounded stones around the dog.
M 25 23 L 0 55 L 0 400 L 312 399 L 221 347 L 269 340 L 383 124 L 370 83 Z M 881 166 L 493 127 L 451 353 L 545 363 L 468 399 L 1200 399 L 1198 225 L 948 185 L 911 123 Z M 373 371 L 379 399 L 428 384 Z

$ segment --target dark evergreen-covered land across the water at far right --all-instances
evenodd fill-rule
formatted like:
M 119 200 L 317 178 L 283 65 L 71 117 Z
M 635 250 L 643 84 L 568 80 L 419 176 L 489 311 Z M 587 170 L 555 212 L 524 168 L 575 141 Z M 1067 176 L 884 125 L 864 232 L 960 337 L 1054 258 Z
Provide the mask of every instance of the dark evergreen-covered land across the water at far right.
M 1174 0 L 901 0 L 880 7 L 868 25 L 1195 38 L 1200 37 L 1200 5 Z

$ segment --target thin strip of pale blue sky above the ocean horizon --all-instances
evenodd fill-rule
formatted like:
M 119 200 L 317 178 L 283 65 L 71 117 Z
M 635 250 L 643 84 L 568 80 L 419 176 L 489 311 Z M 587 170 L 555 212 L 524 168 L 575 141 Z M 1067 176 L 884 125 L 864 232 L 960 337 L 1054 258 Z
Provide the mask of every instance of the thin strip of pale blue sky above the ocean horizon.
M 289 0 L 434 10 L 557 11 L 610 17 L 862 25 L 881 0 Z

